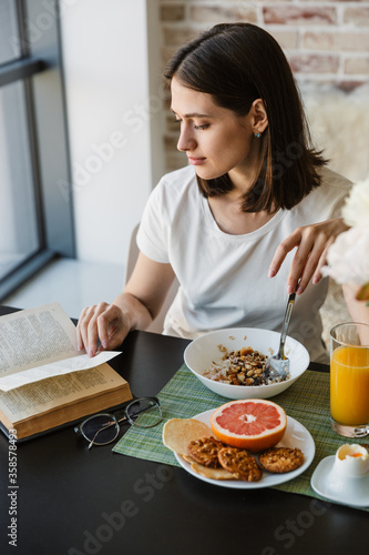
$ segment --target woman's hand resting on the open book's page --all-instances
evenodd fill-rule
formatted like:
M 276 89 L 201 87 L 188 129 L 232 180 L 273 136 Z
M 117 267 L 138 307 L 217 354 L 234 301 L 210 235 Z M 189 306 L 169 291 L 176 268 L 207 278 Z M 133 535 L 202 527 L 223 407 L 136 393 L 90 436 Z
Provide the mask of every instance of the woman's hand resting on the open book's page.
M 122 310 L 115 304 L 100 303 L 83 309 L 76 326 L 79 351 L 83 347 L 89 356 L 120 345 L 130 331 Z M 101 346 L 98 349 L 100 339 Z

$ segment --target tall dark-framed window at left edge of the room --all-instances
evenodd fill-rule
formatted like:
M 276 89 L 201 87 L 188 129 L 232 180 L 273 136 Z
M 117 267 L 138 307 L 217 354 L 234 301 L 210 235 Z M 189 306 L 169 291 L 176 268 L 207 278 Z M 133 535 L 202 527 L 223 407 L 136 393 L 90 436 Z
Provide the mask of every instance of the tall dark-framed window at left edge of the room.
M 59 2 L 0 0 L 0 301 L 74 255 Z

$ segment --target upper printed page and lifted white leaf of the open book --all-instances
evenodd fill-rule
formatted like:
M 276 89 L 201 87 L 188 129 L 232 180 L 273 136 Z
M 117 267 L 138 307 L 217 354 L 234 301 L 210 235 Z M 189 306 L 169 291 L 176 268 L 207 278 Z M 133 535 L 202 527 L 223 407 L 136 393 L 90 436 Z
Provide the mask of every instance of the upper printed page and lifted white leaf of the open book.
M 90 359 L 76 349 L 73 322 L 59 303 L 0 317 L 0 390 L 88 370 L 119 355 L 103 351 Z

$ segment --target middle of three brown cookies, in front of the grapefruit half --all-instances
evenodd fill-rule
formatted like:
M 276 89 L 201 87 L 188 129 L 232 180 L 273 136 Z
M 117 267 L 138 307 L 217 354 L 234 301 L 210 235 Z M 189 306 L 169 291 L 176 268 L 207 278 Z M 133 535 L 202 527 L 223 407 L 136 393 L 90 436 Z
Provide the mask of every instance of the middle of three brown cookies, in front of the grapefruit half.
M 223 468 L 230 472 L 236 480 L 257 482 L 263 475 L 256 458 L 248 451 L 224 447 L 218 452 L 218 460 Z

